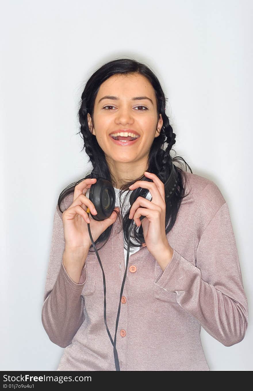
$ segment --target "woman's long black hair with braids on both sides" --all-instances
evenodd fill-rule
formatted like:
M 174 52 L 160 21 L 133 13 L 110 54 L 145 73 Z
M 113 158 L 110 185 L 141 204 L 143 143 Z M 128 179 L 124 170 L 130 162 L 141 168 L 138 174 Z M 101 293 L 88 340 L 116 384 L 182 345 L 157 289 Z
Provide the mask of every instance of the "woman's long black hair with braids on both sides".
M 160 113 L 163 119 L 163 127 L 160 131 L 160 136 L 155 137 L 153 144 L 151 145 L 151 149 L 149 151 L 149 157 L 148 157 L 148 167 L 147 171 L 152 172 L 158 176 L 158 178 L 165 183 L 166 179 L 169 178 L 169 174 L 171 172 L 172 167 L 172 161 L 179 161 L 185 160 L 180 157 L 176 156 L 173 159 L 170 156 L 170 150 L 172 149 L 172 145 L 176 143 L 176 134 L 173 133 L 173 129 L 170 125 L 169 118 L 167 117 L 165 113 L 166 109 L 166 103 L 167 98 L 165 98 L 163 90 L 161 88 L 161 84 L 156 77 L 156 75 L 153 73 L 153 71 L 145 64 L 140 63 L 138 61 L 135 61 L 134 59 L 115 59 L 113 61 L 109 61 L 108 63 L 105 63 L 102 65 L 99 69 L 97 69 L 93 75 L 88 79 L 84 91 L 81 95 L 80 100 L 80 107 L 78 111 L 79 115 L 79 122 L 81 124 L 80 131 L 77 133 L 81 135 L 84 141 L 84 146 L 82 151 L 85 149 L 86 154 L 89 156 L 89 160 L 92 163 L 93 170 L 89 174 L 87 174 L 84 178 L 80 179 L 79 181 L 75 183 L 71 183 L 68 187 L 66 187 L 61 194 L 59 195 L 58 199 L 58 206 L 60 208 L 61 202 L 65 197 L 70 194 L 74 193 L 75 186 L 87 178 L 105 178 L 108 181 L 110 181 L 114 187 L 116 187 L 116 180 L 113 177 L 113 174 L 110 172 L 108 163 L 106 161 L 106 157 L 104 154 L 104 151 L 100 148 L 99 143 L 97 142 L 97 139 L 94 135 L 92 135 L 92 131 L 90 131 L 90 128 L 88 126 L 88 113 L 90 114 L 90 117 L 92 118 L 92 128 L 93 128 L 93 112 L 94 112 L 94 104 L 95 99 L 97 96 L 97 93 L 99 91 L 99 87 L 104 81 L 106 81 L 109 77 L 115 75 L 115 74 L 140 74 L 147 78 L 147 80 L 151 83 L 151 85 L 154 88 L 155 94 L 156 94 L 156 107 L 157 107 L 157 116 L 159 119 Z M 92 129 L 93 130 L 93 129 Z M 166 149 L 164 150 L 164 146 L 166 145 Z M 190 172 L 192 173 L 192 170 L 190 166 L 185 162 L 186 165 L 189 167 Z M 174 192 L 173 196 L 167 201 L 166 199 L 166 191 L 165 191 L 165 202 L 166 202 L 166 215 L 165 215 L 165 231 L 166 235 L 167 233 L 172 229 L 172 227 L 175 224 L 176 217 L 178 214 L 178 210 L 181 204 L 181 201 L 183 197 L 185 197 L 185 187 L 183 182 L 183 176 L 186 183 L 186 177 L 185 172 L 180 167 L 176 166 L 176 170 L 178 173 L 178 186 L 176 188 L 176 191 Z M 135 183 L 136 181 L 142 179 L 144 175 L 140 176 L 139 178 L 135 178 L 131 182 L 127 182 L 127 180 L 122 179 L 123 185 L 120 187 L 119 197 L 120 197 L 120 206 L 121 205 L 121 196 L 123 192 L 131 191 L 129 190 L 129 186 Z M 60 208 L 60 211 L 63 212 Z M 122 215 L 120 213 L 118 214 L 118 218 L 121 221 L 121 230 L 124 231 L 124 239 L 127 243 L 128 235 L 129 235 L 129 227 L 131 224 L 131 220 L 129 219 L 129 211 L 130 207 L 128 208 L 126 214 L 124 215 L 122 219 Z M 100 247 L 102 248 L 106 242 L 109 239 L 109 236 L 111 234 L 113 224 L 111 224 L 96 240 L 95 245 L 97 248 L 97 244 L 103 243 L 103 245 Z M 133 231 L 131 232 L 130 237 L 130 249 L 135 248 L 136 246 L 141 246 L 142 243 L 145 242 L 143 233 L 138 233 L 140 227 L 136 226 L 136 224 L 133 224 Z M 131 238 L 134 238 L 135 242 L 138 243 L 136 245 L 131 241 Z M 91 246 L 92 248 L 93 246 Z M 99 250 L 100 248 L 97 248 Z

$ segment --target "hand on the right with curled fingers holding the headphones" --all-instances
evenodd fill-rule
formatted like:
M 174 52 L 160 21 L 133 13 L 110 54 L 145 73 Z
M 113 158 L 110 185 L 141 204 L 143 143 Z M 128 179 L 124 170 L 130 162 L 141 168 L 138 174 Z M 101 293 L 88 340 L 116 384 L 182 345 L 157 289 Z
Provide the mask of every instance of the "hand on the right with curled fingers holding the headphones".
M 133 218 L 138 227 L 142 224 L 147 249 L 156 258 L 163 251 L 172 251 L 165 232 L 166 204 L 164 183 L 151 172 L 145 171 L 144 175 L 152 179 L 153 182 L 136 181 L 129 189 L 134 190 L 138 187 L 149 189 L 152 201 L 141 196 L 138 197 L 131 206 L 129 219 Z M 139 206 L 143 206 L 143 208 Z M 147 219 L 145 218 L 141 221 L 140 216 L 145 216 Z

